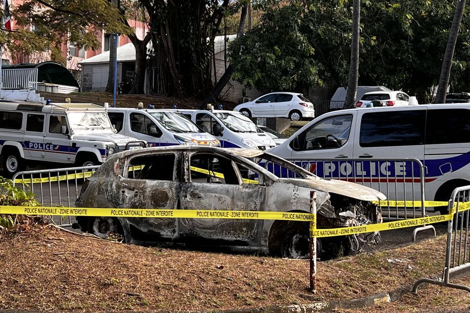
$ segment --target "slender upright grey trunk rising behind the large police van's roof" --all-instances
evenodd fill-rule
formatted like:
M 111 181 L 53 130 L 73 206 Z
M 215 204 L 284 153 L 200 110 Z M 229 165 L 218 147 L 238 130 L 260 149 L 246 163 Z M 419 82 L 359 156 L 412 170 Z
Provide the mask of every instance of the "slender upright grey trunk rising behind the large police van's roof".
M 353 1 L 353 27 L 351 42 L 351 64 L 349 65 L 348 90 L 344 108 L 349 109 L 354 106 L 357 93 L 357 80 L 359 78 L 359 22 L 361 17 L 361 0 Z

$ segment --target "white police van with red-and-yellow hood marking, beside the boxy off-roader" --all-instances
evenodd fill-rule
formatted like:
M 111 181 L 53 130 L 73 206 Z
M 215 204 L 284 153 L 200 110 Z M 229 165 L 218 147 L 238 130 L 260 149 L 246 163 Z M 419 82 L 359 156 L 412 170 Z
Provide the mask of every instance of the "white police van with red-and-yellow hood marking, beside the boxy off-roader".
M 108 116 L 119 134 L 146 140 L 151 147 L 180 144 L 220 146 L 217 138 L 174 111 L 110 108 Z

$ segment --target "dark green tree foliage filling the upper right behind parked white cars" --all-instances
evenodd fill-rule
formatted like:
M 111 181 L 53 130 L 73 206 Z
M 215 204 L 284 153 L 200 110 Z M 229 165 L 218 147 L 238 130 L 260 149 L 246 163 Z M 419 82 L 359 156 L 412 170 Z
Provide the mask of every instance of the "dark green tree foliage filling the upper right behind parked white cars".
M 292 76 L 279 75 L 276 71 L 266 73 L 265 68 L 267 51 L 273 51 L 276 45 L 295 46 L 286 42 L 291 37 L 283 31 L 286 21 L 291 20 L 289 22 L 298 21 L 294 25 L 298 37 L 305 42 L 304 46 L 314 48 L 314 54 L 306 54 L 300 45 L 298 51 L 291 49 L 288 54 L 281 55 L 286 62 L 289 59 L 308 62 L 295 63 L 291 72 L 306 73 L 305 66 L 311 66 L 312 73 L 318 76 L 317 82 L 328 81 L 333 87 L 346 86 L 351 52 L 352 0 L 298 0 L 290 2 L 288 7 L 273 8 L 261 20 L 265 25 L 259 25 L 240 40 L 258 42 L 257 46 L 246 45 L 243 56 L 239 55 L 241 43 L 231 46 L 237 80 L 249 87 L 286 88 L 284 81 Z M 420 102 L 429 101 L 430 88 L 438 83 L 454 10 L 454 0 L 363 0 L 359 85 L 385 85 L 417 95 Z M 467 8 L 453 59 L 451 85 L 455 91 L 470 89 L 469 13 Z M 283 48 L 280 50 L 284 52 Z M 274 53 L 272 55 L 276 57 Z M 277 58 L 274 60 L 281 64 Z M 279 84 L 272 84 L 271 81 L 276 79 Z M 297 88 L 311 84 L 306 80 L 296 82 Z M 266 89 L 261 88 L 263 91 Z

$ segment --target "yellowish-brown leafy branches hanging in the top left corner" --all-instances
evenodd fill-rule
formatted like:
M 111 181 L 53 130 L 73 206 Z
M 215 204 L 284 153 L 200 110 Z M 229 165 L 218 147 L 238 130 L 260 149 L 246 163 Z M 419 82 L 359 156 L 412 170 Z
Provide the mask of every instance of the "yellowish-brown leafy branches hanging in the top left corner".
M 44 54 L 45 59 L 64 63 L 61 46 L 68 41 L 79 47 L 97 49 L 101 42 L 96 32 L 130 33 L 123 19 L 107 0 L 27 0 L 10 6 L 17 27 L 2 32 L 14 62 L 34 62 L 31 57 Z

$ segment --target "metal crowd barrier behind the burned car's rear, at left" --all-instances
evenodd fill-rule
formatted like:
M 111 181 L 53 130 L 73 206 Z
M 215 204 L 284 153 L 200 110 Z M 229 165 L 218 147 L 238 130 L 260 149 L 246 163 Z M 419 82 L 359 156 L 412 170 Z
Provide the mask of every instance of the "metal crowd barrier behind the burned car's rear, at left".
M 97 165 L 18 172 L 12 180 L 16 187 L 34 193 L 41 205 L 70 207 L 75 205 L 85 178 L 90 177 L 99 167 Z M 73 223 L 70 216 L 65 219 L 59 216 L 47 216 L 47 218 L 62 227 L 72 226 Z

